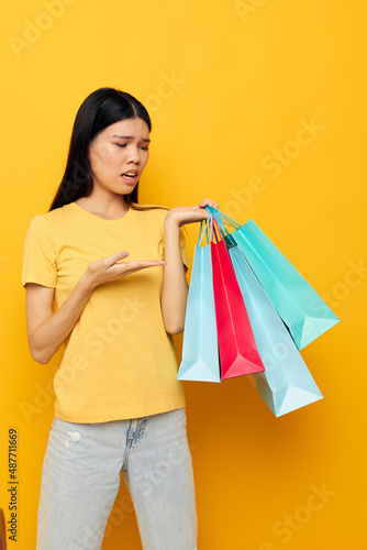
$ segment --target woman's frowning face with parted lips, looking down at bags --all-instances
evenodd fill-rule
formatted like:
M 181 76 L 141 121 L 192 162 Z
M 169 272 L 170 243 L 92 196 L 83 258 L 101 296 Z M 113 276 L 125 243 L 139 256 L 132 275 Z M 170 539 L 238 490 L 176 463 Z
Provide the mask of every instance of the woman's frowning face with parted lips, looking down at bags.
M 93 190 L 132 193 L 148 161 L 149 141 L 149 129 L 138 118 L 120 120 L 102 130 L 89 146 Z

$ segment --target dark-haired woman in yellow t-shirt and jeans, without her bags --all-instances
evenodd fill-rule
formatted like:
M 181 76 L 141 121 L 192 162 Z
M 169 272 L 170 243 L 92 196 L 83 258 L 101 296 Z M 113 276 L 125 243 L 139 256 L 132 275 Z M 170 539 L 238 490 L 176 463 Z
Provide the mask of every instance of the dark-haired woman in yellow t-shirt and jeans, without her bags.
M 100 549 L 120 472 L 144 550 L 193 550 L 197 516 L 185 396 L 171 334 L 184 329 L 188 261 L 180 228 L 209 199 L 137 205 L 149 116 L 113 88 L 80 106 L 65 174 L 23 252 L 27 336 L 55 374 L 37 550 Z M 127 260 L 126 260 L 127 258 Z M 144 260 L 143 260 L 144 258 Z

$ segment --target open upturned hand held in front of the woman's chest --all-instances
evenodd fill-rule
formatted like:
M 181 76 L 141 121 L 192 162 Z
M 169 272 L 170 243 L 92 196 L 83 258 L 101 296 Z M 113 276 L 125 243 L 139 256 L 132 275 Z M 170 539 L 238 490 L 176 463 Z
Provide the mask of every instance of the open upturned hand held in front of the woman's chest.
M 155 267 L 158 265 L 165 265 L 166 262 L 160 260 L 138 260 L 135 262 L 121 262 L 129 256 L 129 252 L 122 251 L 116 252 L 112 256 L 103 257 L 102 260 L 97 260 L 89 264 L 84 278 L 90 285 L 91 288 L 101 285 L 103 283 L 110 283 L 111 280 L 118 280 L 120 278 L 126 277 L 146 267 Z

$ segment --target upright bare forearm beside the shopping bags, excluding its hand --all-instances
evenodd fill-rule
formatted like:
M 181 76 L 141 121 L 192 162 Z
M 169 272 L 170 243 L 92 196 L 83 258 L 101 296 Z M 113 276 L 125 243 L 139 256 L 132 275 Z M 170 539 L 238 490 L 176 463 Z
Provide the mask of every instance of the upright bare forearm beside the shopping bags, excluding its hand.
M 177 334 L 184 330 L 188 284 L 179 245 L 179 224 L 165 221 L 165 261 L 162 289 L 162 315 L 167 332 Z

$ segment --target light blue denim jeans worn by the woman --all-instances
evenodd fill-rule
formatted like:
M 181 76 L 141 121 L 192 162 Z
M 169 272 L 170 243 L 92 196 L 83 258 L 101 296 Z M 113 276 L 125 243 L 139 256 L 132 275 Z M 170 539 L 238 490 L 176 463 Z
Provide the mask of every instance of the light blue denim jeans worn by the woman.
M 144 550 L 196 550 L 185 408 L 101 424 L 55 417 L 42 473 L 37 550 L 100 550 L 120 472 Z

